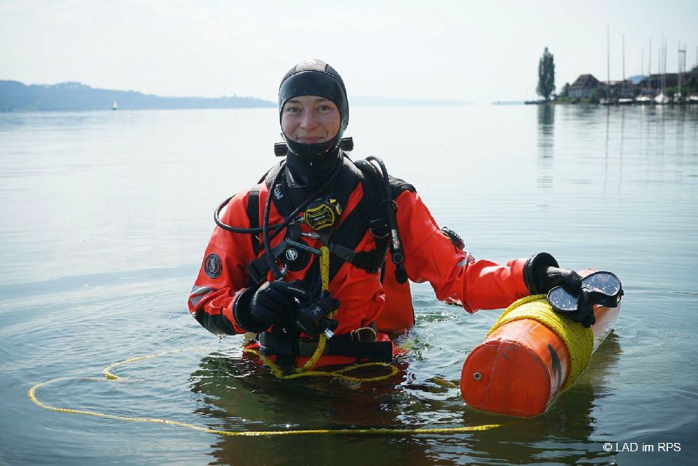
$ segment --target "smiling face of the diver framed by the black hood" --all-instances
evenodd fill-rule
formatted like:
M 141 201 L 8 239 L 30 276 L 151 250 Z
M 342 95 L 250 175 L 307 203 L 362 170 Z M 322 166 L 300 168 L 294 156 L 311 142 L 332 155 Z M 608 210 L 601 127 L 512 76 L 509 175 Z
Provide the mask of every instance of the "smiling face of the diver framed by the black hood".
M 327 142 L 337 135 L 341 115 L 332 100 L 320 96 L 296 96 L 281 109 L 281 130 L 301 144 Z

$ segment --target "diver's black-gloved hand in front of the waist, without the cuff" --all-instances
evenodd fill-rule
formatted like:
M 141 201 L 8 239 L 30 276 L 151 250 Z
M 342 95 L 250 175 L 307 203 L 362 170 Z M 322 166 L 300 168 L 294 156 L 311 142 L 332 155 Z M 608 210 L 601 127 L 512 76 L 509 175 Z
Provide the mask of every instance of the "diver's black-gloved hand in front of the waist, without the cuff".
M 300 280 L 267 282 L 253 294 L 250 315 L 267 324 L 267 328 L 272 325 L 292 327 L 298 310 L 295 299 L 304 303 L 311 297 L 311 292 L 304 289 Z

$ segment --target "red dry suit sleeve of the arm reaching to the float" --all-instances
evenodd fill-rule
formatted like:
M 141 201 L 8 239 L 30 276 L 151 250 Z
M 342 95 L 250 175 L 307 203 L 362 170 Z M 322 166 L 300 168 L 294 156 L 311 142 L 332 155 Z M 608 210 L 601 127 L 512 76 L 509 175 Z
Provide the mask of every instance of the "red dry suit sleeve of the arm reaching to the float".
M 530 294 L 523 281 L 527 259 L 506 265 L 475 260 L 440 232 L 417 193 L 404 191 L 396 202 L 408 277 L 415 283 L 431 283 L 440 301 L 460 303 L 473 313 L 505 308 Z

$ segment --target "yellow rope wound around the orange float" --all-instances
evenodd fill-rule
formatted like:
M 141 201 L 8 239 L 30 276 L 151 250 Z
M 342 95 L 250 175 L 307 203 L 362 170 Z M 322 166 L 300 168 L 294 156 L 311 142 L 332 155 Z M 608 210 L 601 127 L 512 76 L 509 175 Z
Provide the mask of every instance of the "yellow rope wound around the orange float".
M 570 370 L 567 373 L 567 379 L 563 381 L 562 390 L 574 385 L 574 382 L 577 382 L 581 373 L 589 365 L 594 349 L 594 332 L 591 327 L 585 329 L 583 326 L 562 317 L 553 310 L 544 294 L 535 294 L 514 301 L 499 316 L 487 336 L 507 322 L 521 319 L 536 320 L 554 331 L 563 340 L 567 352 L 570 353 Z

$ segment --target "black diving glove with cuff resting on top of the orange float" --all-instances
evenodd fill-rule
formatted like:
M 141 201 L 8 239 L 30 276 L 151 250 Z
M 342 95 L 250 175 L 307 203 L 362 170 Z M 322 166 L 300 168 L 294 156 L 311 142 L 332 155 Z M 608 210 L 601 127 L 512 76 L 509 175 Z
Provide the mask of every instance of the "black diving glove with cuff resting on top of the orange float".
M 579 296 L 581 276 L 572 269 L 560 269 L 555 257 L 548 253 L 531 256 L 523 267 L 523 281 L 531 294 L 547 293 L 552 288 L 562 287 Z

